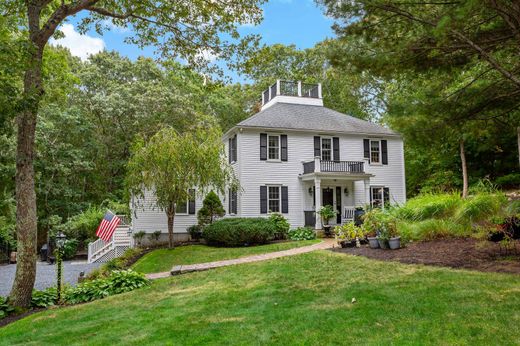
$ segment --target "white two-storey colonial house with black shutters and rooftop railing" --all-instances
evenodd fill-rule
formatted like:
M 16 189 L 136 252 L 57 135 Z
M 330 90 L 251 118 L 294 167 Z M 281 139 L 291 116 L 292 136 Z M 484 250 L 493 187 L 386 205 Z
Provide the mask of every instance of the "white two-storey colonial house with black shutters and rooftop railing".
M 282 213 L 291 227 L 321 229 L 321 206 L 337 210 L 332 224 L 353 217 L 355 207 L 404 203 L 402 137 L 381 125 L 323 106 L 321 84 L 278 80 L 262 93 L 260 112 L 223 136 L 241 188 L 222 196 L 226 217 Z M 177 207 L 175 239 L 187 240 L 204 196 Z M 141 201 L 142 202 L 142 201 Z M 166 215 L 149 193 L 133 208 L 133 232 L 160 230 Z M 144 205 L 144 208 L 142 207 Z

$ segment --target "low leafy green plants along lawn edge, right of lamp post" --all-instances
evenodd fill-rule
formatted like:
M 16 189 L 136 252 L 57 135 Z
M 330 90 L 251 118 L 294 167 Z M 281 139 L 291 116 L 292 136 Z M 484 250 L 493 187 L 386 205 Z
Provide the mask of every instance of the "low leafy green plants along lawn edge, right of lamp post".
M 149 284 L 143 274 L 133 270 L 116 270 L 107 278 L 85 281 L 65 292 L 69 304 L 90 302 L 114 294 L 129 292 Z

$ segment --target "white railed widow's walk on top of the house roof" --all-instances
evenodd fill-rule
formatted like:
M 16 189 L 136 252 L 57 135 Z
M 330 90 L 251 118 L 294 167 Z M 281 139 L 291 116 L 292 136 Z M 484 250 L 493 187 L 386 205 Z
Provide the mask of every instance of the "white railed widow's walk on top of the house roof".
M 321 83 L 311 84 L 278 79 L 262 93 L 262 110 L 276 103 L 323 106 Z

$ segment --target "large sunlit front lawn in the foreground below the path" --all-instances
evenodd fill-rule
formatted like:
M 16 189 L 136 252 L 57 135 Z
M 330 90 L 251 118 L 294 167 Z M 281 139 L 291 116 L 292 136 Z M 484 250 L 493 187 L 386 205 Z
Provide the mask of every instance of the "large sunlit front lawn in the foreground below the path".
M 520 276 L 317 251 L 37 313 L 0 343 L 513 345 L 519 325 Z

